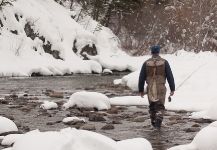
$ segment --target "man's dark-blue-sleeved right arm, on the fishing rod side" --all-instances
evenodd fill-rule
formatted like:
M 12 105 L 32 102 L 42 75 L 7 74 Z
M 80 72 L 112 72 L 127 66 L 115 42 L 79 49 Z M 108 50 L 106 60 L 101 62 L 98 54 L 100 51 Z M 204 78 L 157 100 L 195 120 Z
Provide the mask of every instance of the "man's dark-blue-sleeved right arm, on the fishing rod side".
M 170 86 L 170 91 L 171 91 L 170 95 L 172 96 L 175 91 L 175 81 L 174 81 L 173 73 L 172 73 L 172 70 L 170 68 L 168 61 L 165 62 L 165 72 L 166 72 L 167 81 Z

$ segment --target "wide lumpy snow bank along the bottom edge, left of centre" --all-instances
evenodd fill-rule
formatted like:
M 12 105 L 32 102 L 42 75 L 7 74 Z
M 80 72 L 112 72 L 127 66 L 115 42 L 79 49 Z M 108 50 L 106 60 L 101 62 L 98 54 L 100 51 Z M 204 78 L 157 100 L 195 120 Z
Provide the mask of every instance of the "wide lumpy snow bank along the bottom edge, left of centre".
M 19 137 L 13 150 L 152 150 L 150 142 L 143 138 L 116 142 L 101 134 L 77 130 L 62 129 L 59 132 L 30 131 Z

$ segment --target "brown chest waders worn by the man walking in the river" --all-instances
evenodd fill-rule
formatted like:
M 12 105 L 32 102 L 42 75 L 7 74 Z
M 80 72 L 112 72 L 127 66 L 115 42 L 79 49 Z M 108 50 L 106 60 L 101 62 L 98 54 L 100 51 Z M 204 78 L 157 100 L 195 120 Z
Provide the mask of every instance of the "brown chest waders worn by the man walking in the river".
M 160 128 L 165 110 L 165 60 L 161 57 L 150 58 L 147 60 L 146 70 L 151 123 L 154 127 Z

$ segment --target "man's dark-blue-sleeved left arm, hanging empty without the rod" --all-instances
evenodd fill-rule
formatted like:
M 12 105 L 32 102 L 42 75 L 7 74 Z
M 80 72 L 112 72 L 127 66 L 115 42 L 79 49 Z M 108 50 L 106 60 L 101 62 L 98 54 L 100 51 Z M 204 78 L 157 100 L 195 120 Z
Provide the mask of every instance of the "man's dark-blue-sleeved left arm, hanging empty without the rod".
M 146 80 L 146 63 L 143 64 L 139 75 L 139 92 L 144 94 L 144 85 Z

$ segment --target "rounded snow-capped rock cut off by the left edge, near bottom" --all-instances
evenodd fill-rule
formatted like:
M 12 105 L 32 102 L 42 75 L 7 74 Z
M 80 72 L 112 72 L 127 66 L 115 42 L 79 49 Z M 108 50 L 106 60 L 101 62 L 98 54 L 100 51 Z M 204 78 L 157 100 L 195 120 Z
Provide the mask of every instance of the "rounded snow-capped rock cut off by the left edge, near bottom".
M 0 116 L 0 134 L 11 131 L 18 131 L 16 124 L 10 119 Z

